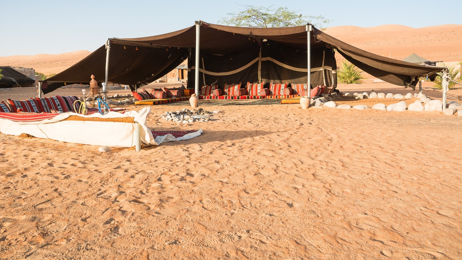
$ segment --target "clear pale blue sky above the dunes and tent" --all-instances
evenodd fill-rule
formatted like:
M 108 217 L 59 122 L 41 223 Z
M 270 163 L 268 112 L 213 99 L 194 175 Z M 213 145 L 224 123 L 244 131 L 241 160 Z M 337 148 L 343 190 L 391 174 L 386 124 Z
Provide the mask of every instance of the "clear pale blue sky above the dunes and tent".
M 322 15 L 331 26 L 462 24 L 462 1 L 429 0 L 0 0 L 0 56 L 96 50 L 107 38 L 145 37 L 180 30 L 195 20 L 217 23 L 239 4 L 284 6 Z

